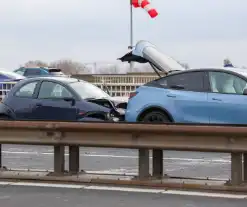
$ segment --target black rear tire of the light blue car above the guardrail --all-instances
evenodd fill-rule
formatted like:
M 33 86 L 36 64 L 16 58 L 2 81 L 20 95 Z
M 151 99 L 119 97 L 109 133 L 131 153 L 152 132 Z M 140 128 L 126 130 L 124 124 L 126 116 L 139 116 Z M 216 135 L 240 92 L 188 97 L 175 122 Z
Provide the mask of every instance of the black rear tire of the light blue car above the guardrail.
M 170 123 L 171 121 L 163 111 L 155 110 L 155 111 L 151 111 L 145 114 L 143 118 L 141 119 L 141 122 Z

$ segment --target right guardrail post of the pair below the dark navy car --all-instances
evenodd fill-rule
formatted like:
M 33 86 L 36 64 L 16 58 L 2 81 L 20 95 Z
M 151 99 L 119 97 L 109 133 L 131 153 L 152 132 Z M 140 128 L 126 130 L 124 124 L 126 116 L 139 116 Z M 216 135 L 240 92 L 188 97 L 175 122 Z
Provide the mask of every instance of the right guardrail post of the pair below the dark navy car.
M 80 148 L 69 146 L 69 172 L 77 174 L 80 170 Z

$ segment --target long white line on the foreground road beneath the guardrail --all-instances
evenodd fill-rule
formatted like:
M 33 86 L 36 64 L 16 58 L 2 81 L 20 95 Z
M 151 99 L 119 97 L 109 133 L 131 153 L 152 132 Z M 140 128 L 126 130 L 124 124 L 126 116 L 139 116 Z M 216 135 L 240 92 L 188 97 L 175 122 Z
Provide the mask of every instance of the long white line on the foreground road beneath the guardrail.
M 70 188 L 70 189 L 85 189 L 85 190 L 100 190 L 100 191 L 120 191 L 133 193 L 160 193 L 165 195 L 184 195 L 184 196 L 201 196 L 211 198 L 230 198 L 230 199 L 246 199 L 244 194 L 223 194 L 223 193 L 204 193 L 179 190 L 159 190 L 159 189 L 144 189 L 144 188 L 128 188 L 128 187 L 109 187 L 109 186 L 87 186 L 87 185 L 69 185 L 69 184 L 49 184 L 49 183 L 25 183 L 25 182 L 1 182 L 0 186 L 29 186 L 29 187 L 48 187 L 48 188 Z

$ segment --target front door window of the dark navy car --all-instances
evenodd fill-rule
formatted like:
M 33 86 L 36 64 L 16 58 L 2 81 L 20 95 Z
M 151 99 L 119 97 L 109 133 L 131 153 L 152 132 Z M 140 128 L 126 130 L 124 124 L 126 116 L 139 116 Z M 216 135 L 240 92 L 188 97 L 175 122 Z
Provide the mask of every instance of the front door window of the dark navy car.
M 54 82 L 44 81 L 41 84 L 38 98 L 54 99 L 54 98 L 71 98 L 73 95 L 62 85 Z

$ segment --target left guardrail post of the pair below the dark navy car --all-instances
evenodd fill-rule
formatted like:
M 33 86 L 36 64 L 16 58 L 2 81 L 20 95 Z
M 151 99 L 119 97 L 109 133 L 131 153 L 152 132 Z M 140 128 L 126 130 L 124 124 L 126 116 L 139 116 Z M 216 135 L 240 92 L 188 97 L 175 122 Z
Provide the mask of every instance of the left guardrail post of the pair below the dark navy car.
M 54 172 L 64 173 L 64 146 L 54 146 Z

